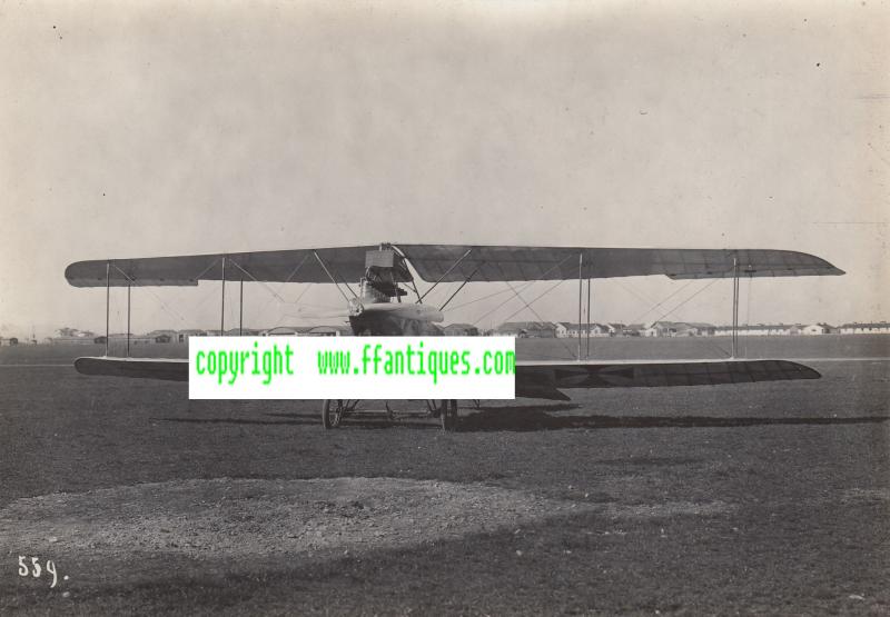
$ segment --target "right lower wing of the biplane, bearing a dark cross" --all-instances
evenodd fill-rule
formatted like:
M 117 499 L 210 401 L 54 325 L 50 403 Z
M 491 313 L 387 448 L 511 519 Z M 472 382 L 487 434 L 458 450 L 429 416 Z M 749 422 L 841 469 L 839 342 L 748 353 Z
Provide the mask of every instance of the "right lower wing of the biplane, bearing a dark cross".
M 820 377 L 812 368 L 790 360 L 520 361 L 516 396 L 568 400 L 560 388 L 722 386 Z

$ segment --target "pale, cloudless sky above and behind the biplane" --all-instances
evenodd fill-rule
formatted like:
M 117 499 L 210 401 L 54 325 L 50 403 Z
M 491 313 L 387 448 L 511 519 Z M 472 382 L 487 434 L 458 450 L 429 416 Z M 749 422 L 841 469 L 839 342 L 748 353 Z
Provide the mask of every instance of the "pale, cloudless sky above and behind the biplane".
M 889 319 L 888 26 L 872 0 L 0 4 L 0 336 L 103 331 L 77 260 L 382 241 L 799 250 L 848 273 L 744 281 L 742 322 Z M 726 324 L 731 289 L 597 280 L 592 319 Z M 135 289 L 132 330 L 218 327 L 219 296 Z M 342 303 L 247 283 L 245 324 Z M 577 283 L 452 306 L 576 320 Z

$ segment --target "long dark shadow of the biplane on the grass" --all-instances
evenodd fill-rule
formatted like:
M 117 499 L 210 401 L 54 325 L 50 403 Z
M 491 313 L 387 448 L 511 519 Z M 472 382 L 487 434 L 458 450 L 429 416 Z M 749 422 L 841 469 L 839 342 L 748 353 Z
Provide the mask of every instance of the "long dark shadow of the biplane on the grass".
M 879 424 L 890 420 L 886 416 L 852 416 L 846 418 L 825 417 L 750 417 L 750 416 L 603 416 L 603 415 L 562 415 L 562 411 L 580 409 L 572 402 L 551 405 L 513 405 L 503 407 L 466 408 L 462 412 L 457 430 L 461 432 L 486 431 L 534 431 L 561 429 L 613 429 L 613 428 L 743 428 L 755 426 L 825 426 L 825 425 L 861 425 Z M 267 419 L 275 418 L 275 419 Z M 427 421 L 416 421 L 418 418 Z M 316 426 L 318 414 L 314 411 L 267 412 L 264 418 L 189 418 L 166 417 L 152 418 L 156 421 L 207 424 L 207 425 L 257 425 L 257 426 Z M 406 422 L 412 419 L 415 421 Z M 395 419 L 383 412 L 358 414 L 345 418 L 343 428 L 388 429 L 406 428 L 437 429 L 437 420 L 424 414 L 396 412 Z

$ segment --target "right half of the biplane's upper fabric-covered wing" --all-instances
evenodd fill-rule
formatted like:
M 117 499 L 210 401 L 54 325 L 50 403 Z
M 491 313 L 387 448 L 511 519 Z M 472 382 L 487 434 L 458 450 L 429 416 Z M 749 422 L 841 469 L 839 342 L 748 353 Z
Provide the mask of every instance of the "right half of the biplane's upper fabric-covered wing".
M 463 281 L 471 277 L 474 281 L 520 281 L 646 275 L 665 275 L 672 279 L 731 278 L 733 259 L 738 259 L 739 275 L 742 277 L 843 273 L 824 259 L 787 250 L 471 245 L 397 247 L 425 281 Z

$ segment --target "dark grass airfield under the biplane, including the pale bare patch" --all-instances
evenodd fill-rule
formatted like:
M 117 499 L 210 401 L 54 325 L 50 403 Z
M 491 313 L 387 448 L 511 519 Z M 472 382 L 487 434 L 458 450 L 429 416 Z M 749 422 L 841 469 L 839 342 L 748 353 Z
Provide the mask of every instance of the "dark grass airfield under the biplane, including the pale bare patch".
M 890 337 L 742 345 L 823 377 L 324 431 L 317 401 L 189 401 L 70 368 L 101 347 L 0 349 L 0 613 L 890 613 Z

